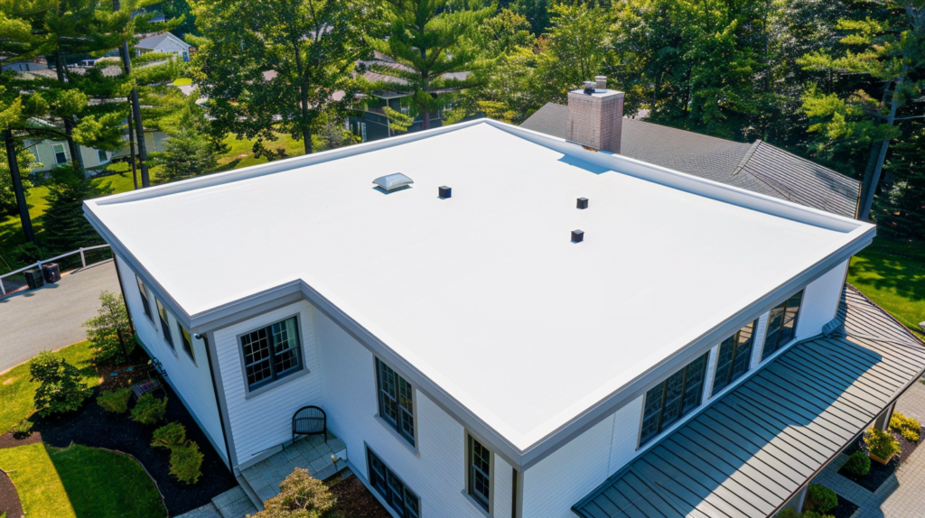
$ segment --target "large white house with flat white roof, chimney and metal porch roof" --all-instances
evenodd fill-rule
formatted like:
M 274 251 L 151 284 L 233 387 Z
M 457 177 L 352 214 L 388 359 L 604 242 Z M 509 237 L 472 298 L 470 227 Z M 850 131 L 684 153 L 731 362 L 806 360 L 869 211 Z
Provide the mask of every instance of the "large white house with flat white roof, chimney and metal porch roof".
M 395 516 L 770 516 L 886 426 L 925 344 L 845 285 L 875 227 L 612 152 L 623 93 L 569 97 L 572 142 L 482 119 L 85 202 L 235 475 L 288 473 L 314 404 Z

